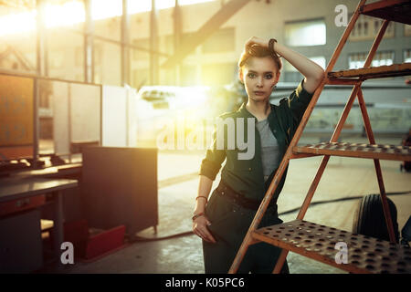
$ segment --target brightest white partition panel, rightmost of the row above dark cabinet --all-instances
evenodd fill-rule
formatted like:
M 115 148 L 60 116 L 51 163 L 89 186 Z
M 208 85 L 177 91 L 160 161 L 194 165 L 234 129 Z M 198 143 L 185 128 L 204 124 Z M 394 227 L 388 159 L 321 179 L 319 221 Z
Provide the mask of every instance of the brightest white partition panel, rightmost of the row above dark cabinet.
M 103 86 L 102 100 L 102 145 L 127 146 L 127 89 Z

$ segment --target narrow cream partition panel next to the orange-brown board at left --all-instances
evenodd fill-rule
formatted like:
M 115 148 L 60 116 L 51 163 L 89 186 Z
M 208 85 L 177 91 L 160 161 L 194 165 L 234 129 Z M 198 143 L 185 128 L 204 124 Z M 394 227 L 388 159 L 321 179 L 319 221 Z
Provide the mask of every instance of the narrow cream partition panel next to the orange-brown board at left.
M 54 151 L 57 155 L 69 153 L 68 83 L 50 81 L 53 100 Z

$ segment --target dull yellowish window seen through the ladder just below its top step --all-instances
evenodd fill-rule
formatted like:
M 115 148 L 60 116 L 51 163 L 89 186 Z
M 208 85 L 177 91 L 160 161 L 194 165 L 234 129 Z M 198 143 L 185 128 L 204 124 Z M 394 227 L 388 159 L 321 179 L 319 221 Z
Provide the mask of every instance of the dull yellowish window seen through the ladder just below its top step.
M 349 39 L 351 41 L 374 39 L 382 24 L 383 19 L 361 15 L 358 17 L 355 26 L 353 26 L 353 31 L 351 32 Z M 388 27 L 386 27 L 384 37 L 394 37 L 394 28 L 395 23 L 390 22 Z

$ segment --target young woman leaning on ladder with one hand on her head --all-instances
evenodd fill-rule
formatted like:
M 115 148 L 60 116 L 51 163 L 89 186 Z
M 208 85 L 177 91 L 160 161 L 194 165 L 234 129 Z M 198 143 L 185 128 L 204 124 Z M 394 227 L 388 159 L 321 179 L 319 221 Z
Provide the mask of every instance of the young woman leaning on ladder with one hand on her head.
M 276 106 L 269 103 L 269 96 L 279 82 L 281 61 L 278 55 L 297 68 L 304 79 L 288 99 L 281 99 L 279 106 Z M 224 127 L 215 131 L 213 145 L 206 151 L 201 164 L 193 216 L 193 231 L 203 239 L 205 273 L 228 272 L 310 103 L 312 93 L 324 76 L 323 69 L 307 57 L 277 43 L 275 39 L 265 40 L 258 37 L 248 39 L 238 67 L 238 77 L 246 88 L 248 101 L 243 103 L 239 110 L 223 114 L 220 118 L 243 118 L 244 136 L 247 137 L 246 140 L 254 139 L 255 152 L 251 159 L 244 160 L 238 158 L 238 154 L 244 152 L 238 147 L 227 148 L 227 142 L 225 148 L 217 147 L 216 132 L 222 130 L 227 141 Z M 248 122 L 253 121 L 256 130 L 251 128 L 250 131 Z M 233 124 L 236 125 L 238 134 L 237 122 Z M 226 159 L 221 181 L 208 202 L 213 181 Z M 259 227 L 282 223 L 277 213 L 277 199 L 286 173 L 287 170 Z M 237 272 L 271 273 L 280 251 L 279 247 L 266 243 L 250 245 Z M 288 273 L 287 263 L 283 266 L 282 273 Z

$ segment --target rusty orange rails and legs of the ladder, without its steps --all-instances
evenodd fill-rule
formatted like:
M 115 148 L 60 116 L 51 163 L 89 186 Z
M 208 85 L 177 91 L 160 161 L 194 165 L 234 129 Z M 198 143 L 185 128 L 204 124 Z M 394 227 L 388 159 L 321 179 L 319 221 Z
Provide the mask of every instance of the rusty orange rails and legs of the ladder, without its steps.
M 311 157 L 312 154 L 305 154 L 305 153 L 294 153 L 293 152 L 293 148 L 295 146 L 297 146 L 298 141 L 300 140 L 300 136 L 302 134 L 302 131 L 304 130 L 310 116 L 311 116 L 311 112 L 314 109 L 315 104 L 317 103 L 317 100 L 320 97 L 321 91 L 324 88 L 324 86 L 326 84 L 330 84 L 330 85 L 353 85 L 353 90 L 351 92 L 350 98 L 348 99 L 344 110 L 342 111 L 342 115 L 340 117 L 340 120 L 338 121 L 337 126 L 335 127 L 333 133 L 332 133 L 332 138 L 330 140 L 330 142 L 336 142 L 338 141 L 338 138 L 341 134 L 342 131 L 342 126 L 345 122 L 345 120 L 348 117 L 348 114 L 350 112 L 350 110 L 352 109 L 353 106 L 353 101 L 355 99 L 355 97 L 358 98 L 358 102 L 360 104 L 360 109 L 363 115 L 363 120 L 364 120 L 364 126 L 365 126 L 365 131 L 368 137 L 368 140 L 370 141 L 371 144 L 374 144 L 374 133 L 373 130 L 371 129 L 371 123 L 370 123 L 370 119 L 365 107 L 365 102 L 364 102 L 364 96 L 363 96 L 363 92 L 361 89 L 361 85 L 363 83 L 363 79 L 359 78 L 357 80 L 348 80 L 348 79 L 330 79 L 328 78 L 328 73 L 332 71 L 332 68 L 335 65 L 335 62 L 337 61 L 338 57 L 340 56 L 340 53 L 342 51 L 342 47 L 345 45 L 348 37 L 350 36 L 350 33 L 353 30 L 353 27 L 358 19 L 358 17 L 361 15 L 361 11 L 364 7 L 366 0 L 361 0 L 359 2 L 359 4 L 357 5 L 357 8 L 355 9 L 355 12 L 350 20 L 349 25 L 345 28 L 342 37 L 338 43 L 338 46 L 335 48 L 333 54 L 332 54 L 332 58 L 330 60 L 330 63 L 328 64 L 327 68 L 325 69 L 325 78 L 321 81 L 321 84 L 319 85 L 319 87 L 315 90 L 313 97 L 311 99 L 311 102 L 307 108 L 307 110 L 305 111 L 301 121 L 300 121 L 300 126 L 298 127 L 298 129 L 296 130 L 293 139 L 290 141 L 290 145 L 282 159 L 282 161 L 279 164 L 279 169 L 277 170 L 274 178 L 272 179 L 270 185 L 269 185 L 269 190 L 267 191 L 267 193 L 265 194 L 259 208 L 257 211 L 257 214 L 255 215 L 252 223 L 249 226 L 248 229 L 248 233 L 244 238 L 244 241 L 242 243 L 242 245 L 240 246 L 240 248 L 238 249 L 237 255 L 234 259 L 234 262 L 232 264 L 232 266 L 230 267 L 228 273 L 233 274 L 237 272 L 238 267 L 241 264 L 241 261 L 244 258 L 244 255 L 246 255 L 247 250 L 248 250 L 248 246 L 249 245 L 254 245 L 257 244 L 259 241 L 255 238 L 253 238 L 252 234 L 254 231 L 257 230 L 258 228 L 258 224 L 260 223 L 263 215 L 265 214 L 268 206 L 269 206 L 269 202 L 273 196 L 273 193 L 275 192 L 275 190 L 277 189 L 280 179 L 282 177 L 282 175 L 284 174 L 285 169 L 287 168 L 290 159 L 297 159 L 297 158 L 305 158 L 305 157 Z M 377 36 L 374 39 L 374 43 L 368 53 L 368 56 L 366 57 L 365 63 L 364 63 L 364 68 L 367 68 L 371 65 L 371 62 L 374 58 L 375 52 L 379 46 L 379 44 L 381 43 L 381 40 L 385 34 L 385 30 L 387 28 L 389 24 L 389 20 L 386 20 L 383 22 L 383 25 L 380 27 L 379 32 L 377 34 Z M 322 158 L 321 161 L 321 165 L 318 168 L 317 174 L 315 175 L 315 178 L 313 180 L 313 182 L 311 183 L 311 187 L 306 195 L 306 198 L 304 200 L 304 203 L 302 204 L 301 208 L 300 208 L 300 213 L 297 216 L 297 219 L 303 219 L 304 215 L 307 212 L 307 209 L 311 203 L 311 199 L 312 196 L 315 192 L 315 190 L 317 189 L 318 184 L 320 183 L 321 180 L 321 176 L 322 173 L 325 170 L 325 167 L 328 163 L 330 159 L 330 155 L 324 155 L 324 157 Z M 388 203 L 387 203 L 387 199 L 386 199 L 386 193 L 385 193 L 385 185 L 384 185 L 384 181 L 383 181 L 383 175 L 381 172 L 381 165 L 379 162 L 379 159 L 374 159 L 374 168 L 375 168 L 375 172 L 377 175 L 377 180 L 378 180 L 378 186 L 380 189 L 380 196 L 381 196 L 381 200 L 383 203 L 383 209 L 384 209 L 384 214 L 385 214 L 385 223 L 387 225 L 388 228 L 388 233 L 390 236 L 390 241 L 395 243 L 395 233 L 394 233 L 394 227 L 393 227 L 393 222 L 391 220 L 391 214 L 390 214 L 390 210 L 388 207 Z M 277 261 L 276 266 L 274 267 L 273 273 L 279 273 L 279 271 L 281 270 L 281 267 L 283 266 L 285 259 L 287 257 L 289 253 L 289 250 L 283 249 L 281 254 L 279 255 L 279 259 Z

